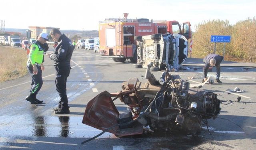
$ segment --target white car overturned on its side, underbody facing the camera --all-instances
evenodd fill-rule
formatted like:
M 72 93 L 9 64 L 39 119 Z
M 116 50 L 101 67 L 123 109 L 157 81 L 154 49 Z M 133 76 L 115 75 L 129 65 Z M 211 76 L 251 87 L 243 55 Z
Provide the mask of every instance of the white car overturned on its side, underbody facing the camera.
M 188 40 L 180 34 L 152 34 L 134 36 L 137 40 L 136 68 L 147 68 L 152 63 L 151 70 L 178 69 L 188 56 Z

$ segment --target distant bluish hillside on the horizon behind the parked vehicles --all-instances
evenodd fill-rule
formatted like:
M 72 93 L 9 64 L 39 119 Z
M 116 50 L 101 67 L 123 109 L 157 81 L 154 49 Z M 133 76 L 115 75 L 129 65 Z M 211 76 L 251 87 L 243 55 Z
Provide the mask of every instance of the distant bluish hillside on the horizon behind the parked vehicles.
M 26 30 L 28 29 L 6 28 L 5 30 L 6 32 L 20 32 L 24 36 Z M 94 38 L 99 36 L 99 32 L 97 30 L 91 30 L 91 31 L 60 30 L 60 32 L 66 34 L 68 38 L 72 38 L 75 35 L 80 36 L 82 38 Z

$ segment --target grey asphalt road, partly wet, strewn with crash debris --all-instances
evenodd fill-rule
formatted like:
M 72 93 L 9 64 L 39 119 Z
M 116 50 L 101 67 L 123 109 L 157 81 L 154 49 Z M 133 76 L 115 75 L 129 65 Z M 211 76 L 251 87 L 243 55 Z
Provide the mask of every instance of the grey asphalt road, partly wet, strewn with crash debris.
M 171 150 L 171 149 L 222 149 L 252 150 L 256 144 L 256 69 L 242 70 L 256 64 L 222 63 L 223 84 L 206 84 L 202 89 L 212 90 L 222 100 L 221 112 L 216 120 L 208 120 L 210 132 L 203 126 L 201 134 L 190 137 L 184 134 L 153 133 L 145 128 L 143 135 L 117 138 L 104 133 L 99 138 L 84 145 L 80 143 L 97 134 L 100 130 L 82 124 L 86 104 L 100 92 L 120 92 L 121 84 L 130 77 L 144 79 L 144 68 L 134 68 L 128 61 L 114 62 L 102 58 L 93 50 L 79 49 L 72 56 L 72 70 L 67 82 L 70 114 L 57 116 L 52 111 L 59 101 L 54 84 L 53 61 L 45 59 L 42 73 L 44 84 L 38 93 L 43 104 L 31 105 L 24 100 L 30 89 L 31 77 L 26 76 L 0 84 L 0 149 L 90 149 L 90 150 Z M 188 58 L 178 70 L 190 84 L 202 80 L 202 59 Z M 215 68 L 208 75 L 214 76 Z M 157 79 L 161 72 L 153 72 Z M 234 88 L 241 93 L 228 92 Z M 192 89 L 197 90 L 197 89 Z M 241 96 L 240 102 L 234 102 Z M 231 103 L 224 105 L 227 100 Z M 127 111 L 127 106 L 115 101 L 119 111 Z M 228 120 L 224 120 L 228 119 Z M 242 127 L 238 127 L 237 125 Z

